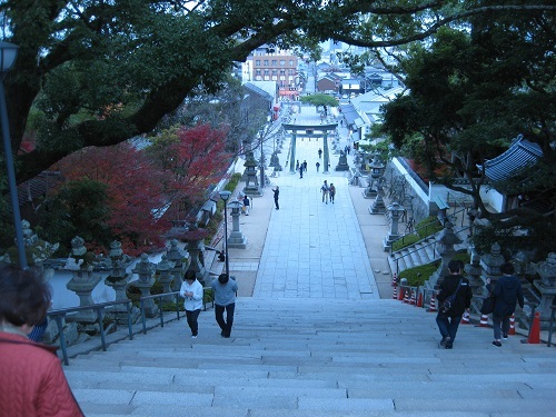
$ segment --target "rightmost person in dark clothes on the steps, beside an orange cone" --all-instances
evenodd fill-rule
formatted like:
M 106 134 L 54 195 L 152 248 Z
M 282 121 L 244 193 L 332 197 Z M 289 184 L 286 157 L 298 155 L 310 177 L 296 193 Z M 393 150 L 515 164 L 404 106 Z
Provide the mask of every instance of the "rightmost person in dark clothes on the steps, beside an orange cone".
M 516 310 L 516 304 L 524 307 L 523 289 L 519 278 L 514 275 L 514 266 L 509 262 L 500 266 L 502 278 L 496 284 L 487 279 L 487 289 L 495 297 L 493 311 L 494 346 L 502 346 L 500 331 L 505 339 L 508 338 L 509 319 Z

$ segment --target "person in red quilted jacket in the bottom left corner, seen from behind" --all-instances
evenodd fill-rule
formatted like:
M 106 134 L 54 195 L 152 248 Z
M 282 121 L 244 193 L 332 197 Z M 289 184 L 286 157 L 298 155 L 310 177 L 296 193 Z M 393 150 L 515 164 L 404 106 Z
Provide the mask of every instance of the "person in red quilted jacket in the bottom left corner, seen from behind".
M 48 284 L 32 270 L 0 266 L 0 416 L 83 416 L 56 347 L 27 337 L 50 299 Z

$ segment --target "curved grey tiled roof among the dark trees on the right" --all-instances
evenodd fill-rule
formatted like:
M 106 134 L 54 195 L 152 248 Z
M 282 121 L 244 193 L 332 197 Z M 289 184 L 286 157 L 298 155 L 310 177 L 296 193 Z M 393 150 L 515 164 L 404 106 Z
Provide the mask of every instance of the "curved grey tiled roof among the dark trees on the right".
M 542 157 L 543 150 L 540 147 L 519 135 L 504 153 L 485 162 L 485 175 L 492 181 L 504 181 L 512 178 L 517 171 L 535 165 Z M 477 167 L 483 169 L 480 165 L 477 165 Z

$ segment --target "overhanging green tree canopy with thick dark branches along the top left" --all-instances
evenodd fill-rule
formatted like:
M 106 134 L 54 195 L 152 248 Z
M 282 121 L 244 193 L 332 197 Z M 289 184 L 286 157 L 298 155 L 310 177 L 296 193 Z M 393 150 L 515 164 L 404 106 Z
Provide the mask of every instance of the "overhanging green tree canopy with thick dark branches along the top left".
M 12 148 L 37 131 L 37 147 L 18 155 L 18 181 L 81 148 L 150 132 L 198 86 L 217 90 L 264 43 L 403 44 L 484 10 L 457 0 L 4 1 L 4 39 L 20 47 L 6 80 Z

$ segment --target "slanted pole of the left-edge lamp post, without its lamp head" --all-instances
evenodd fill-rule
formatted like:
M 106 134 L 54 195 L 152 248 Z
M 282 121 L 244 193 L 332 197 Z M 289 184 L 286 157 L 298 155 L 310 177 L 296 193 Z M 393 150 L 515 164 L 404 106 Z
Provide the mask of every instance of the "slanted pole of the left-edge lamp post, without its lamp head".
M 10 127 L 8 125 L 8 108 L 6 105 L 6 90 L 3 79 L 0 76 L 0 122 L 2 123 L 2 139 L 8 171 L 8 185 L 10 188 L 11 209 L 13 211 L 13 227 L 16 228 L 16 240 L 18 246 L 19 266 L 27 269 L 27 255 L 23 245 L 23 231 L 21 229 L 21 215 L 19 212 L 18 188 L 16 186 L 16 171 L 13 169 L 13 155 L 11 152 Z

